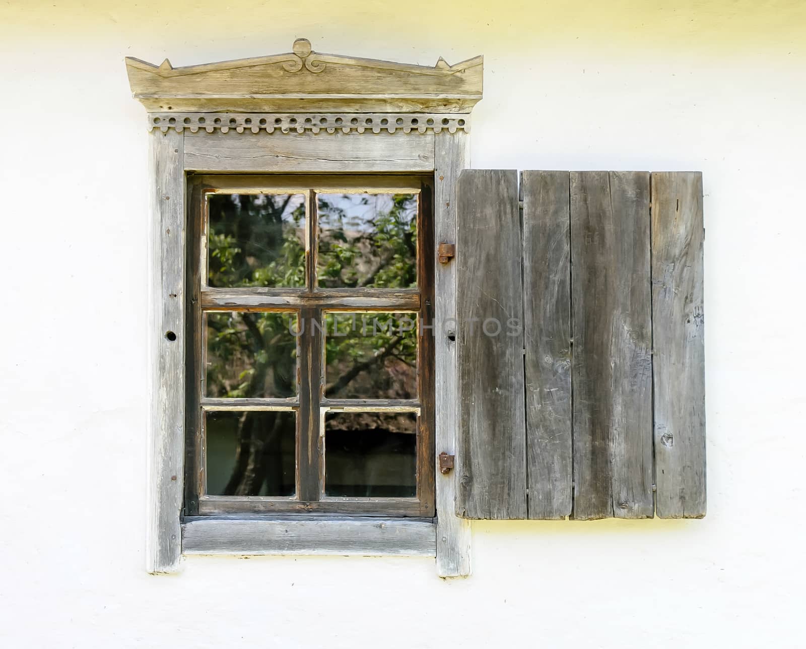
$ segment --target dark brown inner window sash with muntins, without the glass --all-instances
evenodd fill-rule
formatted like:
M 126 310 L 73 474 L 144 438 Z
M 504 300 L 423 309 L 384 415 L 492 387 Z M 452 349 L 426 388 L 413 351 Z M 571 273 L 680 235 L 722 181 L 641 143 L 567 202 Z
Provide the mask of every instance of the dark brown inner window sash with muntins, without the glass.
M 231 175 L 191 174 L 187 180 L 188 277 L 186 294 L 187 410 L 185 426 L 185 517 L 211 514 L 343 514 L 434 517 L 434 178 L 430 175 Z M 306 285 L 300 288 L 212 288 L 207 285 L 207 231 L 211 194 L 283 193 L 305 196 Z M 318 193 L 412 193 L 418 195 L 417 277 L 413 289 L 321 289 L 317 277 Z M 297 339 L 301 368 L 298 393 L 284 398 L 213 398 L 204 392 L 204 314 L 221 312 L 293 313 L 308 323 Z M 322 393 L 326 313 L 410 313 L 418 322 L 418 397 L 332 399 Z M 314 322 L 318 322 L 318 330 Z M 318 341 L 318 344 L 317 344 Z M 205 493 L 206 412 L 292 410 L 296 414 L 295 495 L 221 496 Z M 326 496 L 324 417 L 327 411 L 417 414 L 417 495 L 415 497 Z

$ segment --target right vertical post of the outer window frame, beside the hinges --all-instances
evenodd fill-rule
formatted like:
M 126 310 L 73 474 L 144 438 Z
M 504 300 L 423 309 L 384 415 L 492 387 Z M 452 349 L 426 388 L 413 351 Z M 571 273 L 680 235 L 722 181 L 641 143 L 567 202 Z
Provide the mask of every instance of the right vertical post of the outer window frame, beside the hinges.
M 470 166 L 467 133 L 442 131 L 434 135 L 434 244 L 456 242 L 457 183 Z M 456 453 L 459 429 L 456 387 L 456 260 L 434 268 L 434 436 L 435 451 Z M 453 339 L 451 339 L 453 336 Z M 467 576 L 471 571 L 470 522 L 456 516 L 458 474 L 445 475 L 434 466 L 437 505 L 437 573 L 441 577 Z

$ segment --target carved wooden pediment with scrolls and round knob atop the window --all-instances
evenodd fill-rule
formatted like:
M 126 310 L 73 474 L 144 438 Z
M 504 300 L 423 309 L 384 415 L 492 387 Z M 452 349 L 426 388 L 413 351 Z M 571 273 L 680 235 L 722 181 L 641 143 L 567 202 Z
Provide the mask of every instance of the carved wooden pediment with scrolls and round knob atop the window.
M 135 99 L 150 112 L 467 113 L 482 94 L 482 56 L 433 66 L 293 52 L 173 68 L 127 57 Z

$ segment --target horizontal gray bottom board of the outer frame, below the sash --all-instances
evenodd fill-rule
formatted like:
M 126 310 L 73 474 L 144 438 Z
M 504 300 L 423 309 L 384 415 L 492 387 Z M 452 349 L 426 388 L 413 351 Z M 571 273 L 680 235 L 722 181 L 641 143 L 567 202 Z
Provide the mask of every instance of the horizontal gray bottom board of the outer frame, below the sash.
M 182 525 L 189 555 L 434 556 L 436 526 L 401 518 L 194 518 Z

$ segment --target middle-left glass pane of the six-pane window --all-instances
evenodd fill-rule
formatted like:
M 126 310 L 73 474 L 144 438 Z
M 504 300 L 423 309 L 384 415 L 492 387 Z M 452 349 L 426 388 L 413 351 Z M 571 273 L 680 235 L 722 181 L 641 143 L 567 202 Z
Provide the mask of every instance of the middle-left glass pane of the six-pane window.
M 208 313 L 207 397 L 297 394 L 297 315 Z

